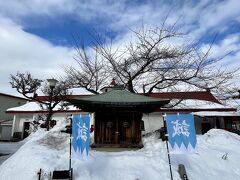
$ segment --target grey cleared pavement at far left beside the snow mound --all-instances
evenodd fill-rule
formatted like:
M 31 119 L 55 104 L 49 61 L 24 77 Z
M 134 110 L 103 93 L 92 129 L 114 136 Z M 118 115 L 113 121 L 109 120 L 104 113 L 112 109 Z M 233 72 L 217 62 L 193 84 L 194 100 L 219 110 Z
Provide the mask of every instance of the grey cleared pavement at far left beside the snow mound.
M 0 165 L 14 154 L 23 144 L 23 142 L 0 142 Z M 8 155 L 2 156 L 3 154 Z

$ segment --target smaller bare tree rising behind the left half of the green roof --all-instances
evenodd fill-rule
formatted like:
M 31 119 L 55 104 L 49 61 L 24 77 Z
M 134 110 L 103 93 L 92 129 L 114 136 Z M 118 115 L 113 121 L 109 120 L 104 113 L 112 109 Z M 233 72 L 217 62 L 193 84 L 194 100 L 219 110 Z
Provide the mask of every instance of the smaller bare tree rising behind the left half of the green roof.
M 106 77 L 110 72 L 105 67 L 105 60 L 97 51 L 97 47 L 93 51 L 88 52 L 84 44 L 78 45 L 75 41 L 76 54 L 74 56 L 78 67 L 67 66 L 64 68 L 67 74 L 67 81 L 74 88 L 85 88 L 87 91 L 98 94 L 99 89 L 105 85 Z M 80 70 L 79 70 L 80 69 Z

